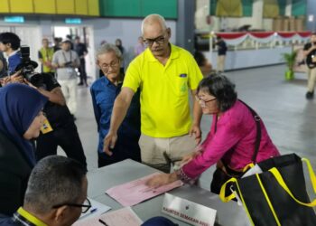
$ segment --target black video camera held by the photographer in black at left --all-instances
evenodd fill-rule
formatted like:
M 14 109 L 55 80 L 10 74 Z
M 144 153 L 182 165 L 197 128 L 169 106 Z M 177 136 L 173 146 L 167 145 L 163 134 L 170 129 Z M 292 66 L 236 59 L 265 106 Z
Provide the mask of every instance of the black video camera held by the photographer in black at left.
M 43 75 L 35 72 L 38 63 L 30 59 L 30 47 L 23 45 L 20 47 L 21 63 L 16 67 L 16 71 L 21 71 L 21 75 L 25 80 L 31 82 L 33 86 L 40 87 L 43 83 Z

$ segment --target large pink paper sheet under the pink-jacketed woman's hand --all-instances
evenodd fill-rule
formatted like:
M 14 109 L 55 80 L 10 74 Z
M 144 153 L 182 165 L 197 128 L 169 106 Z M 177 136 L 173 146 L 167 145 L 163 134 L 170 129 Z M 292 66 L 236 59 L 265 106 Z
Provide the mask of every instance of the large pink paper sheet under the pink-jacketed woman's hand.
M 123 206 L 133 206 L 182 185 L 181 181 L 175 181 L 172 184 L 163 185 L 158 188 L 149 188 L 145 185 L 145 182 L 156 174 L 161 173 L 150 174 L 135 181 L 117 185 L 108 189 L 106 193 Z

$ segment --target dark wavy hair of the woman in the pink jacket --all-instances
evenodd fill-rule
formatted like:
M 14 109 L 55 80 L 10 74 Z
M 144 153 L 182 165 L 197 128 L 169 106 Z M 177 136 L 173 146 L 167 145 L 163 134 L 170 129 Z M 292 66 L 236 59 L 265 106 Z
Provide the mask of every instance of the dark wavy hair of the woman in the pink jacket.
M 235 84 L 228 80 L 226 76 L 217 73 L 213 73 L 200 81 L 197 93 L 200 91 L 208 92 L 214 96 L 221 112 L 231 108 L 237 100 Z

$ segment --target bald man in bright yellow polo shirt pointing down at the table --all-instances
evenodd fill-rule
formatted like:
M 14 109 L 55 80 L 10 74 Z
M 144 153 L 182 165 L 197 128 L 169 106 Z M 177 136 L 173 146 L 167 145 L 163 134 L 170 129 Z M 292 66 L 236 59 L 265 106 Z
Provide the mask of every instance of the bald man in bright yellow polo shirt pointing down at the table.
M 136 90 L 141 89 L 142 162 L 169 173 L 171 162 L 181 160 L 200 143 L 201 109 L 193 98 L 192 121 L 189 93 L 195 95 L 202 74 L 191 53 L 169 42 L 171 29 L 161 15 L 146 16 L 142 33 L 148 48 L 126 71 L 104 151 L 112 154 L 117 130 Z

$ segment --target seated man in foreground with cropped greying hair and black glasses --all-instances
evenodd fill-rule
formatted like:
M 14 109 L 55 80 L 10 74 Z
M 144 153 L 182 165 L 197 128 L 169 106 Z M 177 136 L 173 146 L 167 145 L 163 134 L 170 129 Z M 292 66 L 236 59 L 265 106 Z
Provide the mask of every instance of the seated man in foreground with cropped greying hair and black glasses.
M 84 166 L 70 158 L 43 158 L 30 175 L 23 207 L 11 218 L 0 216 L 0 225 L 70 226 L 91 207 L 86 204 L 86 173 Z

